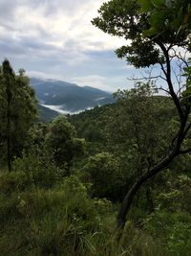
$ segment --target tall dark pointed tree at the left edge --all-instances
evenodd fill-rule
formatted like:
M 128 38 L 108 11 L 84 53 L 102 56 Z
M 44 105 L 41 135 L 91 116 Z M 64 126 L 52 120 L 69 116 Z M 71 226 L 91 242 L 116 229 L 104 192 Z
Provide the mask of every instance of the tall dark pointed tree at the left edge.
M 9 60 L 5 59 L 0 71 L 0 144 L 10 172 L 11 162 L 21 155 L 36 120 L 36 103 L 24 71 L 20 70 L 16 76 Z

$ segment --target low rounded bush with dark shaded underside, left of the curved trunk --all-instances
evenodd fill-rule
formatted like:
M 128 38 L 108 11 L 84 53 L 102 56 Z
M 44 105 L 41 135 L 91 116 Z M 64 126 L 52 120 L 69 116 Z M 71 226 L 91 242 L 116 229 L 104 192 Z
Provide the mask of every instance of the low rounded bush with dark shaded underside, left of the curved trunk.
M 81 175 L 84 182 L 92 183 L 93 197 L 115 201 L 121 197 L 126 185 L 121 171 L 119 158 L 112 153 L 101 152 L 89 157 Z

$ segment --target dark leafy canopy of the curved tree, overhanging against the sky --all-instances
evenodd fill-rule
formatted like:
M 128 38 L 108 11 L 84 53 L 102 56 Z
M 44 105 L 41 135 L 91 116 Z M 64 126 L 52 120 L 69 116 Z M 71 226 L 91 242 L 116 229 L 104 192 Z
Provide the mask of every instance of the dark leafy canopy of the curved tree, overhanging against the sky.
M 117 49 L 135 67 L 163 63 L 156 47 L 160 43 L 189 47 L 191 9 L 189 1 L 111 0 L 98 10 L 93 24 L 105 33 L 130 39 Z

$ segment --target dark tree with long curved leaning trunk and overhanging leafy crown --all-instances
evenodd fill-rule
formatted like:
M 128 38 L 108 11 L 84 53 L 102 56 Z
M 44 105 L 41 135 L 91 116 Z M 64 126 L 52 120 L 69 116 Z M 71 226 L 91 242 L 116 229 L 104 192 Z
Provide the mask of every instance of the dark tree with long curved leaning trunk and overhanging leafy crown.
M 126 46 L 117 49 L 119 58 L 126 58 L 136 68 L 160 67 L 158 78 L 167 85 L 162 89 L 172 98 L 179 115 L 179 128 L 168 151 L 142 170 L 121 204 L 117 223 L 123 228 L 139 188 L 175 157 L 191 151 L 184 145 L 191 127 L 189 77 L 184 84 L 182 81 L 183 67 L 189 66 L 185 53 L 191 50 L 191 6 L 189 0 L 111 0 L 98 12 L 99 16 L 93 20 L 96 27 L 128 40 Z

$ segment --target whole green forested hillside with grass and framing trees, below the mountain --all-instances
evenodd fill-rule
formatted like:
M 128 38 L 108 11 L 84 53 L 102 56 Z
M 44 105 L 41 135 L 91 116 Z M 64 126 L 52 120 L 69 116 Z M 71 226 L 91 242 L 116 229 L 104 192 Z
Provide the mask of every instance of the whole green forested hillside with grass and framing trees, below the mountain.
M 0 67 L 0 255 L 191 255 L 190 0 L 110 0 L 92 20 L 148 77 L 45 123 Z

